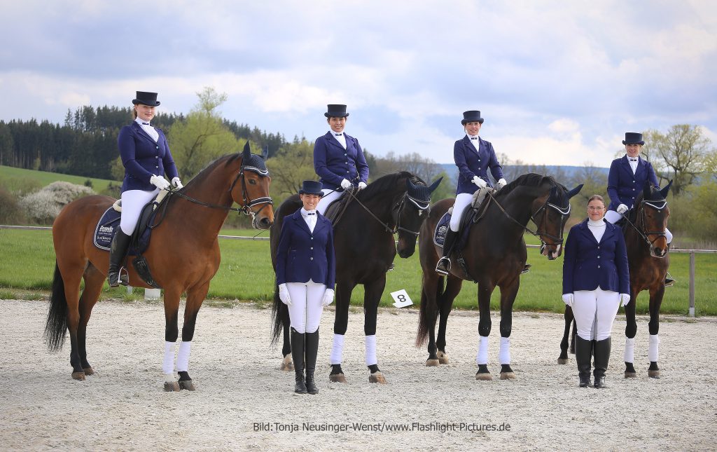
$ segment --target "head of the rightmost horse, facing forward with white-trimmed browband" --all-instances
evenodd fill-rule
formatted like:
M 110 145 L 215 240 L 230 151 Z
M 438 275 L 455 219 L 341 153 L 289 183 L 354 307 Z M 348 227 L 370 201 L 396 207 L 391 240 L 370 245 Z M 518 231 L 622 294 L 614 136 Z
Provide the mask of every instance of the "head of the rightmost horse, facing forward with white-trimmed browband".
M 657 189 L 645 181 L 642 188 L 642 199 L 637 197 L 635 204 L 635 226 L 638 232 L 650 245 L 650 255 L 653 258 L 664 258 L 668 253 L 668 240 L 665 237 L 665 230 L 668 227 L 670 208 L 666 200 L 668 192 L 672 187 L 672 181 L 663 189 Z

